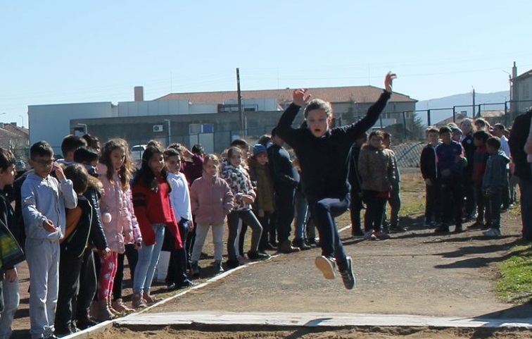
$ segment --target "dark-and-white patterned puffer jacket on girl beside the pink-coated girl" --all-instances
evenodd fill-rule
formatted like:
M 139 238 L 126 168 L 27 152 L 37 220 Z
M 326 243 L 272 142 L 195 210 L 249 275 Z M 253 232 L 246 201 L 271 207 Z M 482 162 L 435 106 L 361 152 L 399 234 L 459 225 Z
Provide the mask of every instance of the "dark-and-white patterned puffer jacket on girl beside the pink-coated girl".
M 236 168 L 232 164 L 227 164 L 224 166 L 220 176 L 227 181 L 233 192 L 233 211 L 249 211 L 251 209 L 251 204 L 246 204 L 242 197 L 243 195 L 251 195 L 251 197 L 255 199 L 257 194 L 253 189 L 253 184 L 251 183 L 251 178 L 249 178 L 248 171 L 242 166 Z

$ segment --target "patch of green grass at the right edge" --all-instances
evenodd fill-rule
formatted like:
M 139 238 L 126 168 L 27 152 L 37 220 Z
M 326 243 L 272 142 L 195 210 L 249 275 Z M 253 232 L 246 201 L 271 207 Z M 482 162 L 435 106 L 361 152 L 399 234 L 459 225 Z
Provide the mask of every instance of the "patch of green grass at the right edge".
M 499 266 L 500 279 L 495 290 L 500 299 L 507 302 L 532 301 L 532 247 L 517 245 L 511 256 Z

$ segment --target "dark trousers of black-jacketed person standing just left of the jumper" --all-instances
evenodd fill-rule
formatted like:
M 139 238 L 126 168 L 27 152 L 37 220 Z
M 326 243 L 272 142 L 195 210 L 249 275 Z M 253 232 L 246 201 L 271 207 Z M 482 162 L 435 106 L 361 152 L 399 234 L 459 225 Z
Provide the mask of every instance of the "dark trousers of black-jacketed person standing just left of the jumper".
M 275 187 L 275 208 L 277 209 L 277 242 L 289 240 L 295 214 L 296 190 L 291 187 Z

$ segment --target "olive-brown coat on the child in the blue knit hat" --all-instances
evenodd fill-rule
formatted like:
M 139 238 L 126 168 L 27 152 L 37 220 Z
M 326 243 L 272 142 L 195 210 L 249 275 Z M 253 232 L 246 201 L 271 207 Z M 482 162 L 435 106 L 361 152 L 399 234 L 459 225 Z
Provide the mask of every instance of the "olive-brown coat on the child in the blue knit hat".
M 268 164 L 261 165 L 252 156 L 248 159 L 252 181 L 257 182 L 255 208 L 266 212 L 275 210 L 274 184 Z

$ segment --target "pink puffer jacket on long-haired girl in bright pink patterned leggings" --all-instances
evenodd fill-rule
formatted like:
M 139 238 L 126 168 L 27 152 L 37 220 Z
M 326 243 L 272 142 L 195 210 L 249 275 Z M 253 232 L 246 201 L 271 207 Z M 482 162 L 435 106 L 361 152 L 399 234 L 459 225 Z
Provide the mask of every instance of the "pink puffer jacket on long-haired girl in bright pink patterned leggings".
M 106 234 L 110 250 L 121 254 L 125 252 L 127 243 L 141 238 L 139 223 L 133 212 L 131 190 L 129 188 L 122 190 L 118 173 L 113 175 L 111 183 L 107 178 L 107 166 L 98 164 L 96 171 L 103 185 L 100 200 L 103 232 Z

